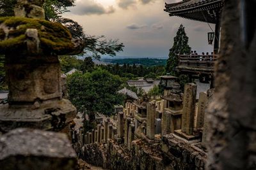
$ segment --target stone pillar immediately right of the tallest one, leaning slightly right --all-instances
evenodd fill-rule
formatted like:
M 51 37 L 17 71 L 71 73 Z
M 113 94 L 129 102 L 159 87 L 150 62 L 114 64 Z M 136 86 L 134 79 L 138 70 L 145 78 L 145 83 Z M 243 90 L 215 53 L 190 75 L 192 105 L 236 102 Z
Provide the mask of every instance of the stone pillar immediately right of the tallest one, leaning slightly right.
M 204 126 L 204 113 L 205 107 L 208 103 L 208 97 L 206 92 L 200 92 L 198 100 L 198 110 L 196 117 L 196 129 L 202 128 Z

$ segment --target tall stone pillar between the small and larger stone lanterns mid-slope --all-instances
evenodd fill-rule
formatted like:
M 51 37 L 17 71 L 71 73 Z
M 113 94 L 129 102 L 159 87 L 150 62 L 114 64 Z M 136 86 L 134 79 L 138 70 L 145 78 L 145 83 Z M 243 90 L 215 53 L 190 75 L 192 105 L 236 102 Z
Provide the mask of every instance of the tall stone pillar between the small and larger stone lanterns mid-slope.
M 156 101 L 147 103 L 147 137 L 155 138 Z

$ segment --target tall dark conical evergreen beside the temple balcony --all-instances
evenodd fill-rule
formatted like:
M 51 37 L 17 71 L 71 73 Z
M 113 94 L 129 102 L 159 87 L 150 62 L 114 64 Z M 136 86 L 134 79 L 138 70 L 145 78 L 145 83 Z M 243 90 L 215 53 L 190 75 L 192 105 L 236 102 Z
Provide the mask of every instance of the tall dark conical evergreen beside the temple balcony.
M 176 67 L 179 64 L 179 54 L 188 54 L 190 51 L 191 47 L 188 45 L 188 36 L 186 35 L 185 27 L 180 25 L 177 35 L 174 38 L 173 46 L 170 49 L 166 72 L 177 76 Z

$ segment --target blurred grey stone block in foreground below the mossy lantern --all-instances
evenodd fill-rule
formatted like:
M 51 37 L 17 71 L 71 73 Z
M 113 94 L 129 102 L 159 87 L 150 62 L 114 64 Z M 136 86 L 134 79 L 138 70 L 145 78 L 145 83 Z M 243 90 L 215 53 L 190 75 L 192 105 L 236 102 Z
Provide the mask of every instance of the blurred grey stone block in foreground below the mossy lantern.
M 0 148 L 2 170 L 76 169 L 76 152 L 65 134 L 15 129 L 0 137 Z

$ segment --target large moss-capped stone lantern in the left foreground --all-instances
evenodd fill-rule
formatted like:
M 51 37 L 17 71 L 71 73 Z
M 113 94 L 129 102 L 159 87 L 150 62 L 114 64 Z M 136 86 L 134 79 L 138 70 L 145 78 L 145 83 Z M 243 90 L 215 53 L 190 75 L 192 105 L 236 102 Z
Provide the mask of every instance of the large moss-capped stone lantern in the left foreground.
M 58 55 L 75 55 L 83 42 L 61 24 L 44 20 L 44 0 L 18 0 L 15 17 L 0 18 L 8 104 L 0 106 L 0 131 L 17 127 L 61 129 L 76 116 L 62 98 Z

